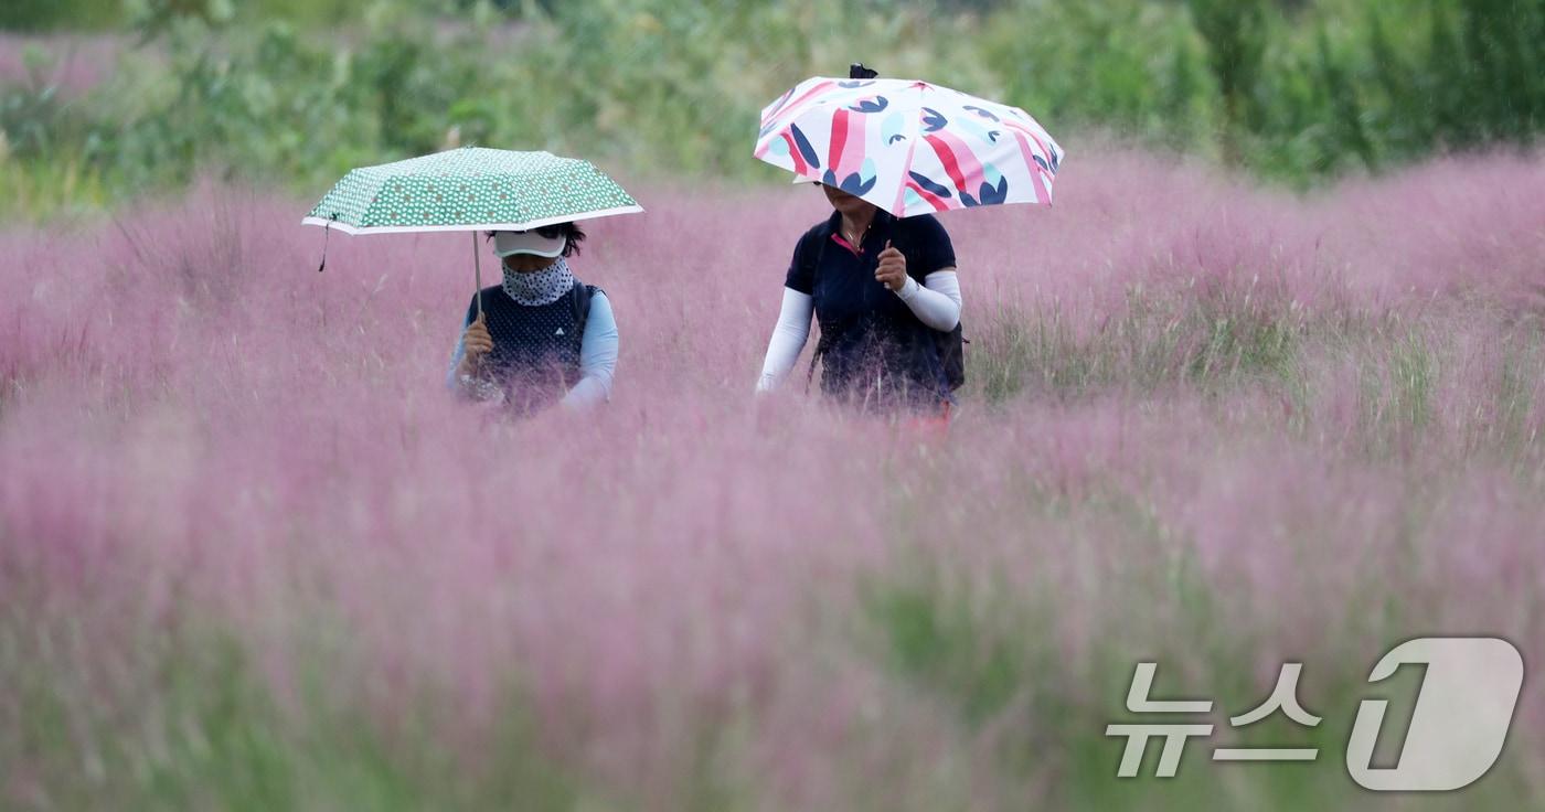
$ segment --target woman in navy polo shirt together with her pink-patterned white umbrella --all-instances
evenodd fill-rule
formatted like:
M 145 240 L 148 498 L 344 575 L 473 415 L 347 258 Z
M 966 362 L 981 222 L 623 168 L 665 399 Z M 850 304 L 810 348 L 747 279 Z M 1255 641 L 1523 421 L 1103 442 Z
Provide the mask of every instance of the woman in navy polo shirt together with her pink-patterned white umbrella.
M 827 395 L 949 417 L 964 383 L 961 289 L 933 213 L 1049 205 L 1061 148 L 1023 110 L 854 65 L 768 105 L 756 156 L 819 182 L 833 208 L 794 247 L 757 389 L 783 381 L 814 316 Z

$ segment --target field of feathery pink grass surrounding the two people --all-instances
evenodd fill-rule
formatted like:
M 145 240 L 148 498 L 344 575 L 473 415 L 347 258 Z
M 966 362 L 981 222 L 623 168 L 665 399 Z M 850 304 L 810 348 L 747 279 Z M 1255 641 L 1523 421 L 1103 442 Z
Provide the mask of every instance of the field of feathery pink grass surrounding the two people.
M 317 273 L 215 182 L 0 230 L 0 806 L 1545 809 L 1534 678 L 1469 790 L 1341 763 L 1397 642 L 1545 655 L 1540 188 L 1085 150 L 942 218 L 947 434 L 752 397 L 808 188 L 635 188 L 573 262 L 613 403 L 527 421 L 443 389 L 465 238 Z M 1119 781 L 1140 659 L 1319 761 Z M 1230 730 L 1289 659 L 1326 721 Z

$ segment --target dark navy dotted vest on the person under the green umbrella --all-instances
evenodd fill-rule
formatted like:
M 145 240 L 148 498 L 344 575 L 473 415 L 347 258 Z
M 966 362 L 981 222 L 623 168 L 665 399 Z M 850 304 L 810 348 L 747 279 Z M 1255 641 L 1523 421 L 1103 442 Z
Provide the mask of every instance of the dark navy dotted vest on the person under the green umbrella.
M 533 412 L 550 406 L 579 381 L 579 347 L 593 292 L 576 279 L 558 301 L 530 306 L 511 299 L 502 286 L 484 289 L 484 321 L 493 338 L 484 374 L 504 389 L 511 408 Z M 476 316 L 473 299 L 467 318 Z

